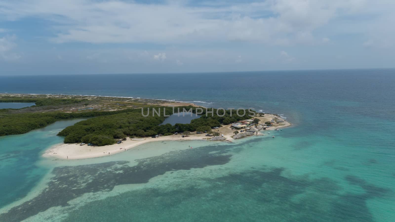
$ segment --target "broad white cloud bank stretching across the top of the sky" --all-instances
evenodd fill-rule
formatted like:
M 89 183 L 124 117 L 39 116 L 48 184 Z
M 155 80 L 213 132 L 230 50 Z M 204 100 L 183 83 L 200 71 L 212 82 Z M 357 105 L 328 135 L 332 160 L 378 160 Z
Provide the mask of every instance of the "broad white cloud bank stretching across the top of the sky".
M 21 0 L 1 1 L 0 19 L 35 17 L 50 21 L 56 36 L 52 40 L 57 43 L 252 41 L 290 45 L 311 43 L 315 30 L 347 16 L 369 15 L 391 27 L 382 18 L 392 15 L 395 2 L 382 2 L 385 4 L 367 0 L 267 0 L 190 6 L 182 1 Z M 339 21 L 337 24 L 342 26 Z M 363 30 L 358 31 L 368 35 L 367 28 L 361 27 Z M 394 37 L 393 33 L 389 37 Z

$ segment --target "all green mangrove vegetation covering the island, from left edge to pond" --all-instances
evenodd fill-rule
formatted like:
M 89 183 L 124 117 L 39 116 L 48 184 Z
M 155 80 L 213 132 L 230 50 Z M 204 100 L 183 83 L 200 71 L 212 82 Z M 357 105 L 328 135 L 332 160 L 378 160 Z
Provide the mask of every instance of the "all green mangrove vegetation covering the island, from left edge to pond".
M 61 119 L 95 117 L 77 122 L 59 132 L 58 135 L 64 136 L 65 143 L 83 142 L 102 146 L 113 144 L 117 139 L 127 136 L 146 137 L 158 134 L 172 135 L 175 132 L 209 131 L 221 124 L 227 125 L 231 122 L 248 119 L 248 114 L 250 114 L 248 110 L 240 111 L 239 114 L 243 114 L 240 116 L 237 115 L 236 110 L 206 109 L 191 105 L 172 108 L 141 103 L 141 107 L 144 108 L 137 108 L 138 103 L 132 104 L 126 101 L 123 103 L 135 108 L 108 109 L 108 107 L 113 107 L 116 99 L 103 101 L 101 98 L 100 100 L 91 100 L 3 96 L 0 98 L 0 102 L 35 102 L 36 105 L 21 109 L 0 109 L 0 136 L 24 134 Z M 122 105 L 118 102 L 116 104 Z M 96 106 L 96 110 L 85 109 L 84 107 L 87 105 Z M 143 113 L 141 109 L 143 109 Z M 147 113 L 148 109 L 150 109 L 150 113 Z M 160 110 L 160 113 L 157 112 L 153 115 L 152 109 Z M 182 111 L 196 113 L 201 117 L 192 120 L 189 124 L 159 125 L 169 115 Z

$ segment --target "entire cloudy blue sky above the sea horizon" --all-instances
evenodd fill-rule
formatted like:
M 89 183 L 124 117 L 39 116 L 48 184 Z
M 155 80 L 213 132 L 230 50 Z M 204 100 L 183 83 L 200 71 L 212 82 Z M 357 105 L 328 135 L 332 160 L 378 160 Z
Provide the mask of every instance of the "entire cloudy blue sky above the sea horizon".
M 0 0 L 0 75 L 395 67 L 394 0 Z

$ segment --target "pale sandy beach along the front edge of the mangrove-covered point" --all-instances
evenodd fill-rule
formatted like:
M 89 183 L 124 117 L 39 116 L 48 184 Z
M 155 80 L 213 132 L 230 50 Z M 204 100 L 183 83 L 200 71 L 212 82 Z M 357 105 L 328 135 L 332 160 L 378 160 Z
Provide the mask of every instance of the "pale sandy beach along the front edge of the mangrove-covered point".
M 267 114 L 264 117 L 255 117 L 255 118 L 260 119 L 261 123 L 264 123 L 264 121 L 270 120 L 274 116 L 275 115 L 273 114 Z M 224 137 L 226 138 L 226 140 L 223 141 L 228 143 L 234 140 L 232 138 L 232 136 L 234 135 L 233 133 L 234 130 L 232 130 L 229 126 L 230 125 L 221 126 L 218 129 L 218 132 L 220 134 L 224 134 Z M 284 128 L 288 126 L 292 126 L 292 124 L 284 120 L 284 122 L 281 125 L 273 126 L 267 130 L 263 130 L 263 132 L 273 131 L 276 128 Z M 264 135 L 261 133 L 261 131 L 258 133 L 258 135 Z M 145 143 L 150 143 L 155 141 L 191 141 L 191 140 L 201 140 L 201 139 L 209 141 L 209 139 L 211 138 L 212 137 L 205 136 L 205 134 L 192 133 L 188 137 L 181 137 L 181 134 L 179 135 L 173 134 L 168 136 L 161 136 L 158 138 L 151 138 L 151 137 L 136 138 L 136 139 L 128 138 L 126 141 L 122 141 L 122 143 L 120 144 L 105 145 L 101 147 L 97 147 L 97 146 L 91 147 L 88 145 L 80 146 L 79 143 L 60 143 L 47 149 L 44 152 L 44 154 L 42 154 L 42 156 L 46 158 L 58 158 L 64 160 L 99 158 L 99 157 L 117 154 L 120 152 L 127 152 L 128 150 L 135 149 L 136 147 L 139 147 L 140 145 L 143 145 Z

